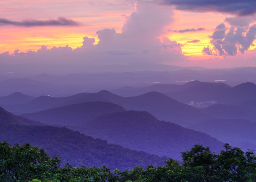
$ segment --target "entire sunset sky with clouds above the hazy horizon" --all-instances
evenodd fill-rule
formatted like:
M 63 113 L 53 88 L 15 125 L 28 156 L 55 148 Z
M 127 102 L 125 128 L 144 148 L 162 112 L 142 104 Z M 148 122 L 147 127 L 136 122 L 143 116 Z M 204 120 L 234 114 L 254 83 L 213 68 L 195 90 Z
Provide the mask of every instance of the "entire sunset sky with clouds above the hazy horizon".
M 0 1 L 0 65 L 256 67 L 255 0 Z

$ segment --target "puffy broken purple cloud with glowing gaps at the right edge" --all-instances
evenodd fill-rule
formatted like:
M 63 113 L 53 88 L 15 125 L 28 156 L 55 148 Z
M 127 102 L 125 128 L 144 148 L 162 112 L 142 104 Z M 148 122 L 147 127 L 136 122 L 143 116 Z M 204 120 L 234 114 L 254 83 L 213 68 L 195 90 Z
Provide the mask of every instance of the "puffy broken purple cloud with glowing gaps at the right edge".
M 219 24 L 213 32 L 210 43 L 212 50 L 204 47 L 203 53 L 208 55 L 236 55 L 238 51 L 244 54 L 256 39 L 256 24 L 251 27 L 231 27 L 226 33 L 225 25 Z M 215 52 L 215 53 L 213 53 Z

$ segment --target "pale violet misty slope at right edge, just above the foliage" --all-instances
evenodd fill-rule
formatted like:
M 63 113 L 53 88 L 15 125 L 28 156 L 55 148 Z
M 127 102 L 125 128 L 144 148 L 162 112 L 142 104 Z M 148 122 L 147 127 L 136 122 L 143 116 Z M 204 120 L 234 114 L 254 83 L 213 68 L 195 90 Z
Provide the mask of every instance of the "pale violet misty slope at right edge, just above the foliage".
M 210 119 L 189 126 L 244 150 L 256 150 L 256 123 L 245 119 Z

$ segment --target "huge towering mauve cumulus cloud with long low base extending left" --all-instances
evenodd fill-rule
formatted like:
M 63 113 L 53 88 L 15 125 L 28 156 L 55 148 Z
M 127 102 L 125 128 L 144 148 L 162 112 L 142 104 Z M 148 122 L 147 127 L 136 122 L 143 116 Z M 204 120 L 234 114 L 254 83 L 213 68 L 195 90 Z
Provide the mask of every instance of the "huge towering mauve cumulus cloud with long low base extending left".
M 122 33 L 105 28 L 96 32 L 97 44 L 94 38 L 86 36 L 81 40 L 81 47 L 76 49 L 42 46 L 37 51 L 20 52 L 8 59 L 78 65 L 161 64 L 185 60 L 182 44 L 167 37 L 162 37 L 162 41 L 158 39 L 172 24 L 173 15 L 169 7 L 138 1 L 136 11 L 127 17 Z

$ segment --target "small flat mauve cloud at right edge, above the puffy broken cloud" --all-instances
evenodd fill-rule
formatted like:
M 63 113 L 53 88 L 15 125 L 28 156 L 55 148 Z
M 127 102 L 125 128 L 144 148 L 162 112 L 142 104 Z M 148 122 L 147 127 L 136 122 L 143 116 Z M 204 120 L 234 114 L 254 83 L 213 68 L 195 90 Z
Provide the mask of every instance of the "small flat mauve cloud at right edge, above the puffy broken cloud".
M 250 23 L 256 21 L 256 16 L 249 17 L 227 17 L 225 19 L 231 26 L 248 27 Z

